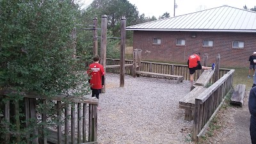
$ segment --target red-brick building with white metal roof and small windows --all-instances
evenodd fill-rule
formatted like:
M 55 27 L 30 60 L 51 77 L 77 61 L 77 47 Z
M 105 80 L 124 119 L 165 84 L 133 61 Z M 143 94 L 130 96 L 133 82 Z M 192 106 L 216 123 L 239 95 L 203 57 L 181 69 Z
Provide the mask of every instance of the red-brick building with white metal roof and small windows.
M 143 60 L 183 62 L 188 56 L 207 53 L 209 63 L 219 53 L 221 67 L 248 67 L 256 51 L 256 12 L 220 6 L 134 26 L 133 48 Z

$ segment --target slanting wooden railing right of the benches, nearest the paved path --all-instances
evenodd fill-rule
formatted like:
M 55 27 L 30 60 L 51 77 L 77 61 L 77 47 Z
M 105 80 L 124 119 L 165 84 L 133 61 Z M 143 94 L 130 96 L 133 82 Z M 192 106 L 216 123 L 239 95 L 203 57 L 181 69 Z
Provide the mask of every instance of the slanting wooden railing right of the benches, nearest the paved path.
M 225 96 L 232 88 L 235 70 L 229 70 L 218 81 L 212 84 L 195 99 L 195 113 L 193 123 L 193 141 L 204 135 L 212 118 L 218 112 Z

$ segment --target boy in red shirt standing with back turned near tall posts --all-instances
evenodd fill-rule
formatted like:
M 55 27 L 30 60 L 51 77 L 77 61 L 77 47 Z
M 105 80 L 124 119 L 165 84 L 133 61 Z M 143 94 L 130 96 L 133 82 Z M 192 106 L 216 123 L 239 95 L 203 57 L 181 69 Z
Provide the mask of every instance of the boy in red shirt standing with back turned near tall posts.
M 89 83 L 92 90 L 92 97 L 99 99 L 99 94 L 101 93 L 101 88 L 104 88 L 104 68 L 99 64 L 100 56 L 95 55 L 93 57 L 94 63 L 90 64 L 87 70 L 88 76 L 90 76 Z M 98 109 L 100 109 L 98 107 Z

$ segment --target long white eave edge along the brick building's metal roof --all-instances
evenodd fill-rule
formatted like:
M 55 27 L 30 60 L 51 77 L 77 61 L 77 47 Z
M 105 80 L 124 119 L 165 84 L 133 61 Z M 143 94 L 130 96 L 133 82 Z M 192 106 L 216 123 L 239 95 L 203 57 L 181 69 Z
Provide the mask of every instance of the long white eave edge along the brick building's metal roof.
M 198 32 L 243 32 L 256 33 L 256 29 L 136 29 L 126 28 L 127 31 L 198 31 Z

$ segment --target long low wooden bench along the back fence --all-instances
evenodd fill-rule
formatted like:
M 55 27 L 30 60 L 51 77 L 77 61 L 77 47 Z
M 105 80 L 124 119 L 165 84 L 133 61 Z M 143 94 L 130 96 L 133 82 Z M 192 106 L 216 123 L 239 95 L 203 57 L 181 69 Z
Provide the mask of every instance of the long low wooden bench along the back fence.
M 136 74 L 140 74 L 143 76 L 155 76 L 155 77 L 164 77 L 164 78 L 170 78 L 170 79 L 177 79 L 177 83 L 182 83 L 183 76 L 176 76 L 171 74 L 159 74 L 154 72 L 144 72 L 144 71 L 136 71 Z

